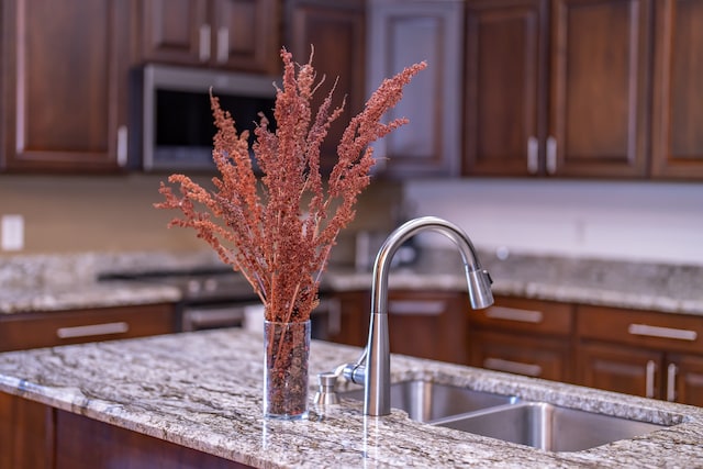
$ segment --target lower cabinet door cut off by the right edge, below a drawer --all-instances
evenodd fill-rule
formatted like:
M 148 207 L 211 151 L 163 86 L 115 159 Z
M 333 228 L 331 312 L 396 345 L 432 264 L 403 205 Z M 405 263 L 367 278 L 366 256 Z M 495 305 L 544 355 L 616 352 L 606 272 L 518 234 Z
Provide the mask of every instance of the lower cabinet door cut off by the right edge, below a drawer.
M 667 400 L 703 407 L 703 357 L 667 358 Z

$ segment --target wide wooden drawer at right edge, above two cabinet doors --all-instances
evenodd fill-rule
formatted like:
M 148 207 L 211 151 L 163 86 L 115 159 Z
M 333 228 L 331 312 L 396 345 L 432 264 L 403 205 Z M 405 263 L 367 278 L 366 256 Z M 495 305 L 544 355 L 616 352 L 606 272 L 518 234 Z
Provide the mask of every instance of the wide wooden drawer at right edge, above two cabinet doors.
M 604 306 L 579 306 L 581 338 L 661 350 L 703 353 L 703 317 Z

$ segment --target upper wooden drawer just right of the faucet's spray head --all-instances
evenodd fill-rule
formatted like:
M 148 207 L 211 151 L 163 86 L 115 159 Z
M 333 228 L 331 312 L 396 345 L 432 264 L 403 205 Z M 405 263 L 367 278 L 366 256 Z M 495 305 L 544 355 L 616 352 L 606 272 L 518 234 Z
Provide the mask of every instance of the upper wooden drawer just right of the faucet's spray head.
M 492 306 L 471 311 L 469 321 L 479 328 L 569 335 L 573 325 L 573 306 L 550 301 L 496 297 Z

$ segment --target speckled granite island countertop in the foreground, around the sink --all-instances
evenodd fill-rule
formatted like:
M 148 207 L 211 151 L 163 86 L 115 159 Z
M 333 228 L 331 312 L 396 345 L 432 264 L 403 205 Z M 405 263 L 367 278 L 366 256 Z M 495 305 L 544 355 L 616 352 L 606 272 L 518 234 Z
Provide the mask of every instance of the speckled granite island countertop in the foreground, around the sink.
M 703 409 L 456 365 L 392 357 L 392 379 L 437 382 L 670 425 L 582 451 L 550 453 L 419 423 L 365 417 L 360 402 L 299 422 L 261 416 L 263 345 L 241 330 L 0 354 L 0 391 L 255 467 L 680 467 L 703 465 Z M 314 342 L 311 383 L 354 361 Z M 311 393 L 312 400 L 312 393 Z

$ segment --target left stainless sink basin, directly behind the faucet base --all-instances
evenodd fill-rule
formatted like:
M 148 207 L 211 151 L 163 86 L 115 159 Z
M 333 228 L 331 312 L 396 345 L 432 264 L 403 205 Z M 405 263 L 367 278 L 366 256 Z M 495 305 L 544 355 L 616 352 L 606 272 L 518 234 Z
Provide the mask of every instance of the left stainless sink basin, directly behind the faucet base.
M 364 400 L 364 390 L 341 392 L 341 398 Z M 517 402 L 517 398 L 475 391 L 450 384 L 413 380 L 391 384 L 391 407 L 408 412 L 419 422 L 466 414 L 488 407 Z

